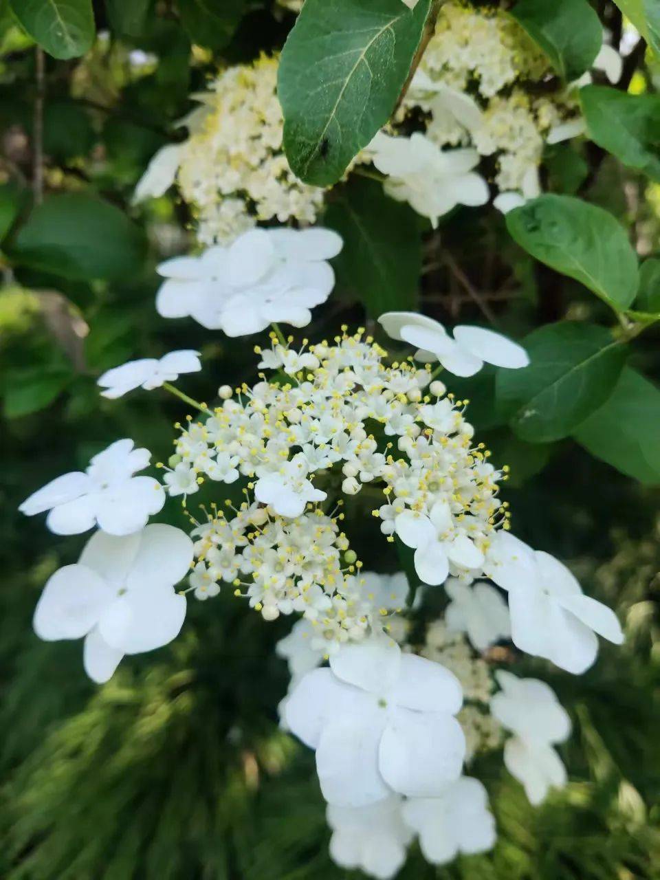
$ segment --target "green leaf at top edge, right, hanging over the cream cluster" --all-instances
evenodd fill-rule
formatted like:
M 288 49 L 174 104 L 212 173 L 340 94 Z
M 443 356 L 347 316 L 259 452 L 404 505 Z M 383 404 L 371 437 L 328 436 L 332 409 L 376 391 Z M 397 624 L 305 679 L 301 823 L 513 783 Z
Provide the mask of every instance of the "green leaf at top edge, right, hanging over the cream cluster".
M 511 15 L 568 82 L 590 69 L 603 43 L 603 28 L 587 0 L 518 0 Z

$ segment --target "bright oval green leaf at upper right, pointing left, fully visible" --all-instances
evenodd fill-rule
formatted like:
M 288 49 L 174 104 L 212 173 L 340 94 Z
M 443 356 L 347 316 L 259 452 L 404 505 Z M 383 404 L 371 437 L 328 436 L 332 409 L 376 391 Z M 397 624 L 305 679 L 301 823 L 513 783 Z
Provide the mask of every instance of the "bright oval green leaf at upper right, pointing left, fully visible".
M 626 309 L 638 284 L 637 257 L 607 211 L 570 195 L 546 194 L 506 216 L 518 245 L 575 278 L 613 309 Z

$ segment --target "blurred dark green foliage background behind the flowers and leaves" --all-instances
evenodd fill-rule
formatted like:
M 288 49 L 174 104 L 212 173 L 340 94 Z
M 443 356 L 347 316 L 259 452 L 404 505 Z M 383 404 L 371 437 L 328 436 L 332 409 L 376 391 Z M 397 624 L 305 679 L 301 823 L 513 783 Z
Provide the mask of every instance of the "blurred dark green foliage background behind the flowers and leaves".
M 121 436 L 147 446 L 154 461 L 165 460 L 172 422 L 186 414 L 165 392 L 103 400 L 99 372 L 136 356 L 198 348 L 204 373 L 182 387 L 201 400 L 253 374 L 251 341 L 220 338 L 192 321 L 165 321 L 154 310 L 155 265 L 190 246 L 190 217 L 173 196 L 136 208 L 132 189 L 189 108 L 188 93 L 201 89 L 218 63 L 208 49 L 191 50 L 171 4 L 158 11 L 132 36 L 99 8 L 99 37 L 84 58 L 45 60 L 46 191 L 72 194 L 77 228 L 90 194 L 116 209 L 103 221 L 106 234 L 103 224 L 95 227 L 89 243 L 106 252 L 111 267 L 98 281 L 12 258 L 11 236 L 15 244 L 31 207 L 35 102 L 43 96 L 33 44 L 0 3 L 0 226 L 6 216 L 3 231 L 10 231 L 0 257 L 0 876 L 330 880 L 348 874 L 326 854 L 313 756 L 277 726 L 288 676 L 274 645 L 286 620 L 264 622 L 231 590 L 207 603 L 191 601 L 176 642 L 130 658 L 100 688 L 84 676 L 79 643 L 43 643 L 31 627 L 43 583 L 77 559 L 85 536 L 50 534 L 40 517 L 20 517 L 18 503 Z M 289 26 L 273 4 L 249 4 L 222 61 L 247 62 L 281 45 Z M 567 167 L 568 153 L 553 158 L 551 173 Z M 658 187 L 611 158 L 579 158 L 589 164 L 590 201 L 612 210 L 638 246 L 654 253 Z M 495 291 L 501 326 L 518 337 L 561 317 L 598 319 L 605 309 L 574 282 L 533 266 L 495 211 L 459 210 L 441 234 L 474 283 Z M 429 241 L 428 260 L 434 247 Z M 472 298 L 445 269 L 424 275 L 421 302 L 450 323 L 479 319 Z M 359 296 L 340 272 L 313 332 L 363 321 Z M 634 362 L 656 380 L 658 341 L 657 332 L 646 334 Z M 580 678 L 533 661 L 520 665 L 547 680 L 572 716 L 574 734 L 561 749 L 568 787 L 535 810 L 503 770 L 500 753 L 477 759 L 474 774 L 488 786 L 500 834 L 494 853 L 434 869 L 413 850 L 400 876 L 660 877 L 658 490 L 627 479 L 572 440 L 517 440 L 493 409 L 488 371 L 450 387 L 473 400 L 469 417 L 479 439 L 496 462 L 511 466 L 506 497 L 515 532 L 568 561 L 585 591 L 619 612 L 628 638 L 620 649 L 601 643 L 598 664 Z M 183 524 L 176 504 L 168 516 Z M 359 511 L 348 520 L 350 530 L 366 568 L 396 568 L 393 550 L 383 558 L 378 545 L 378 558 L 370 558 Z

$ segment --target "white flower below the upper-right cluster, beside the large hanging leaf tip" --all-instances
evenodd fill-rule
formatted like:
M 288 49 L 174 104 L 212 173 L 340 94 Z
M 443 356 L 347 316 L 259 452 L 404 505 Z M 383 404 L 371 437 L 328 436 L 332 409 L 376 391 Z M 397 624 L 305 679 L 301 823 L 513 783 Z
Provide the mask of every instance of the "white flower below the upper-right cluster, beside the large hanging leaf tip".
M 476 150 L 441 150 L 428 137 L 390 137 L 378 132 L 367 155 L 378 171 L 387 174 L 385 192 L 409 202 L 435 227 L 439 217 L 457 205 L 484 205 L 490 193 L 486 181 L 473 171 Z

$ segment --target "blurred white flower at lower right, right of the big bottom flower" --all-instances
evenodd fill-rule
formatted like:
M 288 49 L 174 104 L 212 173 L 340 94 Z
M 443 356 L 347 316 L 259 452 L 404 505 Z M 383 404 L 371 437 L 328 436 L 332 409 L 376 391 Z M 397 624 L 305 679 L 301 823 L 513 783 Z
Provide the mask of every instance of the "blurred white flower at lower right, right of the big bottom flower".
M 566 768 L 553 745 L 570 733 L 570 718 L 553 689 L 538 678 L 495 673 L 502 691 L 490 700 L 490 710 L 515 736 L 504 745 L 504 764 L 524 786 L 530 803 L 545 800 L 550 788 L 566 784 Z

